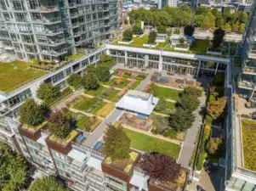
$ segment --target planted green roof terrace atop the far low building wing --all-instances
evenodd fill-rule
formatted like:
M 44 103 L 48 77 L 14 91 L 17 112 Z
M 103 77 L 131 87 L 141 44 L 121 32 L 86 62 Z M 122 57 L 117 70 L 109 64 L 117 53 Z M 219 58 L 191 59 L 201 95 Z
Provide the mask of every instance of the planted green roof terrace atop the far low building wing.
M 208 56 L 220 57 L 220 58 L 226 58 L 229 53 L 228 42 L 223 43 L 223 46 L 227 48 L 225 51 L 222 52 L 222 55 L 214 55 L 214 54 L 207 53 L 208 48 L 213 48 L 209 40 L 196 39 L 188 51 L 181 51 L 181 50 L 174 50 L 174 48 L 172 48 L 171 46 L 167 46 L 169 44 L 169 39 L 170 38 L 167 37 L 165 42 L 158 42 L 158 45 L 156 46 L 156 48 L 151 48 L 151 49 L 161 50 L 162 48 L 164 48 L 163 50 L 170 51 L 170 52 L 200 54 L 200 55 L 208 55 Z M 147 47 L 143 47 L 143 44 L 148 41 L 148 36 L 145 35 L 143 37 L 133 37 L 133 42 L 129 44 L 119 44 L 118 41 L 122 41 L 122 38 L 117 39 L 116 41 L 112 42 L 112 44 L 119 45 L 119 46 L 134 47 L 134 48 L 147 48 Z

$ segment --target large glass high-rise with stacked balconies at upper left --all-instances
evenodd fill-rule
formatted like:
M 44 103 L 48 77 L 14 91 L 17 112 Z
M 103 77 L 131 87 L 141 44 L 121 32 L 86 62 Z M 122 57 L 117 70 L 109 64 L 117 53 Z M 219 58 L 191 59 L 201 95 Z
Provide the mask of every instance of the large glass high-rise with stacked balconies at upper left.
M 0 41 L 17 59 L 64 59 L 118 29 L 118 7 L 118 0 L 1 0 Z

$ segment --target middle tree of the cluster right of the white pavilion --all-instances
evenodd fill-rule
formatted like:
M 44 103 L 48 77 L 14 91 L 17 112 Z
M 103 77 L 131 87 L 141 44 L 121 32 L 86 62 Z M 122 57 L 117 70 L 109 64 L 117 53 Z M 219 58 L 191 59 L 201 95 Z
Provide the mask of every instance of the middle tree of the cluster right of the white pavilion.
M 200 101 L 196 96 L 184 95 L 181 97 L 179 104 L 183 110 L 187 110 L 188 112 L 192 113 L 194 110 L 197 109 L 197 107 L 200 104 Z

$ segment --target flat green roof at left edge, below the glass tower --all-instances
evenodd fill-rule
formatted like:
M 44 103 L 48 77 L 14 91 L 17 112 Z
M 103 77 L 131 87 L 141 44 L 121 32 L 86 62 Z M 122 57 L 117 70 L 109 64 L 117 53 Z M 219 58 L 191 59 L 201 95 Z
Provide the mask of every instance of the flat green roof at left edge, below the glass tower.
M 18 68 L 14 69 L 14 65 Z M 29 63 L 13 61 L 11 63 L 0 62 L 0 91 L 9 92 L 22 83 L 32 81 L 47 72 L 43 70 L 32 69 Z

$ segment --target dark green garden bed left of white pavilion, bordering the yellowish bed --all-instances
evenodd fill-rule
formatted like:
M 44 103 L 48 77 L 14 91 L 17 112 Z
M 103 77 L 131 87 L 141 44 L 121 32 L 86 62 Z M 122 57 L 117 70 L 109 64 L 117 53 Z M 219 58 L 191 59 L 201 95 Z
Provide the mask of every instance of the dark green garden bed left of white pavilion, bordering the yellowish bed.
M 84 98 L 74 105 L 76 110 L 82 110 L 88 113 L 96 114 L 98 110 L 105 106 L 105 102 L 99 98 Z

